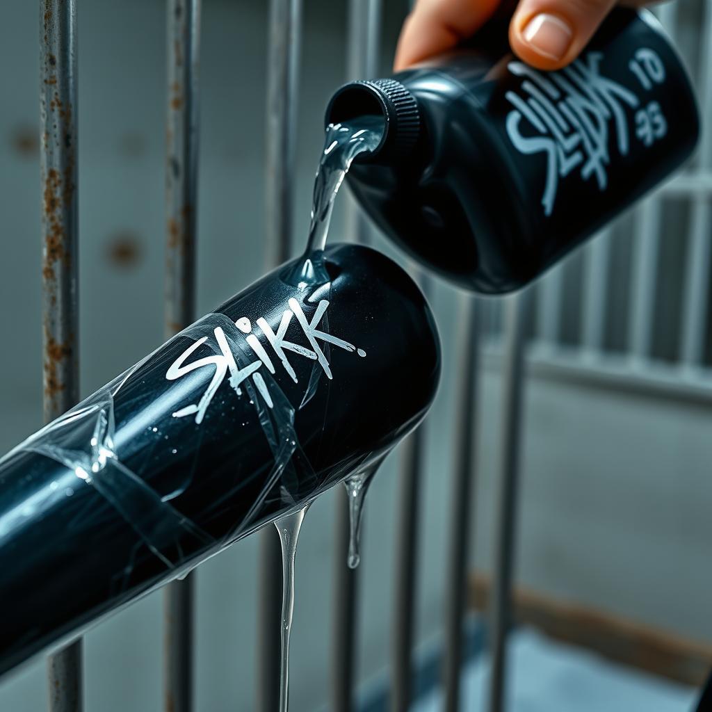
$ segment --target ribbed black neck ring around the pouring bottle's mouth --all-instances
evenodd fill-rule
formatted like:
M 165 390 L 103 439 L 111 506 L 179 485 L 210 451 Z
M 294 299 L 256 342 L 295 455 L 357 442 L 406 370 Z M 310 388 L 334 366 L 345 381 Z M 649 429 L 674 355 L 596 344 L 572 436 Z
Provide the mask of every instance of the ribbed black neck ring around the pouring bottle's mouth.
M 386 125 L 379 145 L 357 160 L 399 161 L 408 157 L 420 134 L 416 98 L 394 79 L 358 80 L 343 85 L 326 109 L 325 125 L 347 122 L 357 116 L 381 114 Z

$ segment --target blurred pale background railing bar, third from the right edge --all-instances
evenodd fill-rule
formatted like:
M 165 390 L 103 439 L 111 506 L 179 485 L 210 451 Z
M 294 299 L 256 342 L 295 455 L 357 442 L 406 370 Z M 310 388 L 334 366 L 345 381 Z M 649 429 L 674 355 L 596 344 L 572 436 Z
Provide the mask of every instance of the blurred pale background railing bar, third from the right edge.
M 587 357 L 603 351 L 610 247 L 611 231 L 606 229 L 584 248 L 581 345 Z

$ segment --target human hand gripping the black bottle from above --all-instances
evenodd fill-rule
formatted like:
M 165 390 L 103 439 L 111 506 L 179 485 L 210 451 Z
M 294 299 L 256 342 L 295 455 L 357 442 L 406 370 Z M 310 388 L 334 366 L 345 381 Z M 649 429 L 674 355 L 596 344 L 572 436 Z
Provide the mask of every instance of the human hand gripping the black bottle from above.
M 394 68 L 402 70 L 473 36 L 506 0 L 417 0 L 398 41 Z M 538 69 L 559 69 L 585 48 L 617 0 L 519 0 L 509 42 Z M 644 0 L 621 4 L 642 6 Z

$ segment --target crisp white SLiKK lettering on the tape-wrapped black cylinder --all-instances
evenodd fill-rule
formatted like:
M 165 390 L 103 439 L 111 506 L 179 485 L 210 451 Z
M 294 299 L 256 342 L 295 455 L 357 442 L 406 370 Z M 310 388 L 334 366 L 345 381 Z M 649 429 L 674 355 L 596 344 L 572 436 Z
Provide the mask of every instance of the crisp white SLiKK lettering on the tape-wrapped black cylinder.
M 331 367 L 323 348 L 319 345 L 319 342 L 329 343 L 348 352 L 355 351 L 362 357 L 366 355 L 364 350 L 357 349 L 355 345 L 318 328 L 321 320 L 326 315 L 326 310 L 329 307 L 328 300 L 320 300 L 311 320 L 308 320 L 305 316 L 300 303 L 296 299 L 292 298 L 288 300 L 288 305 L 289 308 L 283 311 L 282 318 L 276 332 L 263 318 L 258 318 L 255 323 L 262 331 L 268 344 L 271 346 L 271 349 L 276 356 L 276 360 L 281 363 L 281 366 L 288 373 L 293 382 L 296 383 L 298 380 L 296 372 L 287 357 L 287 352 L 295 353 L 301 357 L 318 362 L 320 368 L 329 379 L 333 378 Z M 300 333 L 306 338 L 308 346 L 303 346 L 287 340 L 287 331 L 293 318 L 295 318 L 296 323 L 300 328 Z M 236 320 L 235 326 L 239 330 L 240 337 L 244 338 L 246 346 L 249 347 L 249 352 L 257 358 L 250 360 L 250 362 L 246 364 L 239 363 L 240 355 L 233 352 L 223 328 L 221 326 L 217 326 L 214 328 L 213 334 L 219 353 L 205 356 L 187 363 L 189 357 L 191 357 L 191 355 L 208 340 L 208 337 L 204 336 L 197 341 L 194 341 L 192 345 L 190 345 L 169 366 L 166 372 L 166 378 L 169 381 L 174 381 L 199 368 L 206 367 L 214 368 L 214 374 L 199 402 L 177 410 L 174 412 L 173 417 L 182 418 L 187 415 L 195 414 L 195 422 L 201 423 L 205 417 L 205 412 L 208 409 L 211 400 L 228 373 L 230 374 L 230 385 L 236 394 L 241 396 L 242 391 L 240 385 L 246 379 L 251 378 L 267 407 L 273 407 L 274 404 L 272 397 L 269 393 L 269 389 L 267 388 L 267 384 L 260 373 L 260 370 L 264 367 L 271 374 L 275 374 L 275 362 L 268 354 L 265 347 L 263 347 L 258 337 L 252 332 L 252 324 L 247 317 L 242 317 Z M 244 354 L 245 352 L 248 352 L 248 349 L 244 347 L 241 352 Z

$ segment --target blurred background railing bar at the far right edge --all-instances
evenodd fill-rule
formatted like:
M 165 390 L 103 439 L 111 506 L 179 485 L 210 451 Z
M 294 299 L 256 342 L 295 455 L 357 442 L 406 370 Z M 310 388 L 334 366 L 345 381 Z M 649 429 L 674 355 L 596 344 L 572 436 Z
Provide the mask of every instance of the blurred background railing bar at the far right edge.
M 699 171 L 712 168 L 712 4 L 703 4 L 698 74 L 698 99 L 702 125 Z M 695 197 L 688 234 L 683 313 L 681 365 L 694 369 L 702 365 L 708 317 L 709 271 L 711 259 L 710 224 L 712 206 L 708 197 Z

